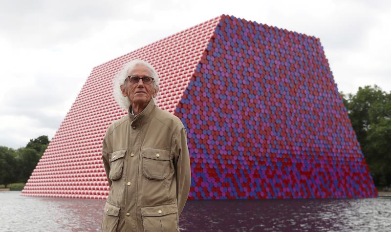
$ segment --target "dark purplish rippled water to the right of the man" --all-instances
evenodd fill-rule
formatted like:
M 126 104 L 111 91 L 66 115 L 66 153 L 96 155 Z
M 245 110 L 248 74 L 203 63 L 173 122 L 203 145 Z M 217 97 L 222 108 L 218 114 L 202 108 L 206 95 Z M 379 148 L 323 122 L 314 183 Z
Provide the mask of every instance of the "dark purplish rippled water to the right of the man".
M 180 225 L 221 232 L 391 231 L 391 199 L 190 201 Z

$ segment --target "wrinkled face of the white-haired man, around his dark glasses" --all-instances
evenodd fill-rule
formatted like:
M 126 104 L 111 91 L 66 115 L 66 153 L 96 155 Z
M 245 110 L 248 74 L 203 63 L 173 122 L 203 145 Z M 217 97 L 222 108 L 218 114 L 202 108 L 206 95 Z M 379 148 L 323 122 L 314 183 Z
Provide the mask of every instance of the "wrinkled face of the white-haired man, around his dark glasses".
M 135 65 L 128 71 L 128 76 L 152 77 L 152 72 L 147 67 L 141 64 Z M 133 107 L 140 105 L 145 107 L 151 101 L 152 97 L 156 97 L 157 90 L 151 84 L 144 84 L 140 79 L 138 83 L 131 83 L 129 78 L 126 78 L 125 83 L 121 85 L 121 91 L 124 97 L 128 97 Z

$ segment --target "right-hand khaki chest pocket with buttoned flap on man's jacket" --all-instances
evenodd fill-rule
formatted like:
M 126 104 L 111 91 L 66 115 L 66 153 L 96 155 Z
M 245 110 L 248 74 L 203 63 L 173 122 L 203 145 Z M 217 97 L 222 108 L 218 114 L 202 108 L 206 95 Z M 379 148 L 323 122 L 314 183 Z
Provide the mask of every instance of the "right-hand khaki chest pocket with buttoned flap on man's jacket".
M 170 174 L 169 151 L 143 148 L 143 175 L 152 180 L 164 180 Z

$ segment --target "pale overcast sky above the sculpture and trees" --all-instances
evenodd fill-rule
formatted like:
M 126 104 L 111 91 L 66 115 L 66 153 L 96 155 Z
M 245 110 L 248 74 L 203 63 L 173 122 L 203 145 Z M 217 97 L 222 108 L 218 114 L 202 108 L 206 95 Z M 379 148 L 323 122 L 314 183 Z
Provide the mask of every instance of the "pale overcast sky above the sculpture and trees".
M 51 139 L 94 66 L 221 14 L 320 38 L 339 91 L 390 91 L 390 2 L 0 0 L 0 146 Z

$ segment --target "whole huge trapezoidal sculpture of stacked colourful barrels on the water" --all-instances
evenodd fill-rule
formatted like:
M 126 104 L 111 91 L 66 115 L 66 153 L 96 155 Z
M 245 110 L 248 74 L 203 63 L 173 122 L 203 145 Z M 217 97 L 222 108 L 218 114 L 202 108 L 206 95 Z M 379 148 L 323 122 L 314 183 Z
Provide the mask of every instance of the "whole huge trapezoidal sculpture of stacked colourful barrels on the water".
M 189 199 L 377 196 L 319 39 L 226 15 L 93 68 L 22 195 L 107 198 L 112 79 L 133 59 L 187 129 Z

